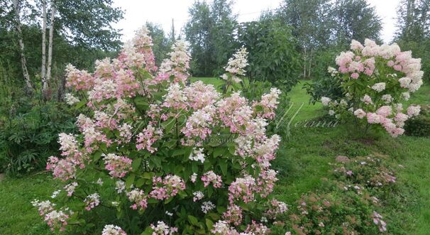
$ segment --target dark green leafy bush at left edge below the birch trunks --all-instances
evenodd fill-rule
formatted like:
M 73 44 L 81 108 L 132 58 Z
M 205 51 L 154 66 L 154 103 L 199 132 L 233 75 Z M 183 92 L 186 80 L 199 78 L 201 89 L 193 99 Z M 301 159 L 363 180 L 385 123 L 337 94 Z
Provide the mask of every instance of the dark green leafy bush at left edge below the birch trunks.
M 23 98 L 9 112 L 0 131 L 0 170 L 8 175 L 45 168 L 47 158 L 58 154 L 58 133 L 75 131 L 67 104 Z

